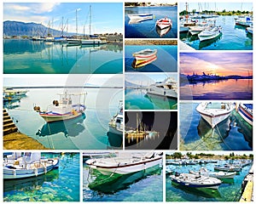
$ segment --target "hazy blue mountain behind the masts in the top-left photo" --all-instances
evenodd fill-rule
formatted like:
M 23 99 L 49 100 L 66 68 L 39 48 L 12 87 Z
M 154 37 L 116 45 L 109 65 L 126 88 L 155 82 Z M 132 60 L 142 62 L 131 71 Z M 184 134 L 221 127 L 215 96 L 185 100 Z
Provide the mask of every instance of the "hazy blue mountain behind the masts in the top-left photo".
M 48 27 L 36 23 L 24 23 L 19 21 L 4 21 L 3 22 L 3 36 L 47 36 L 50 33 L 53 36 L 61 36 L 61 31 L 48 29 Z M 67 32 L 64 33 L 67 35 Z M 73 35 L 73 33 L 68 33 Z

